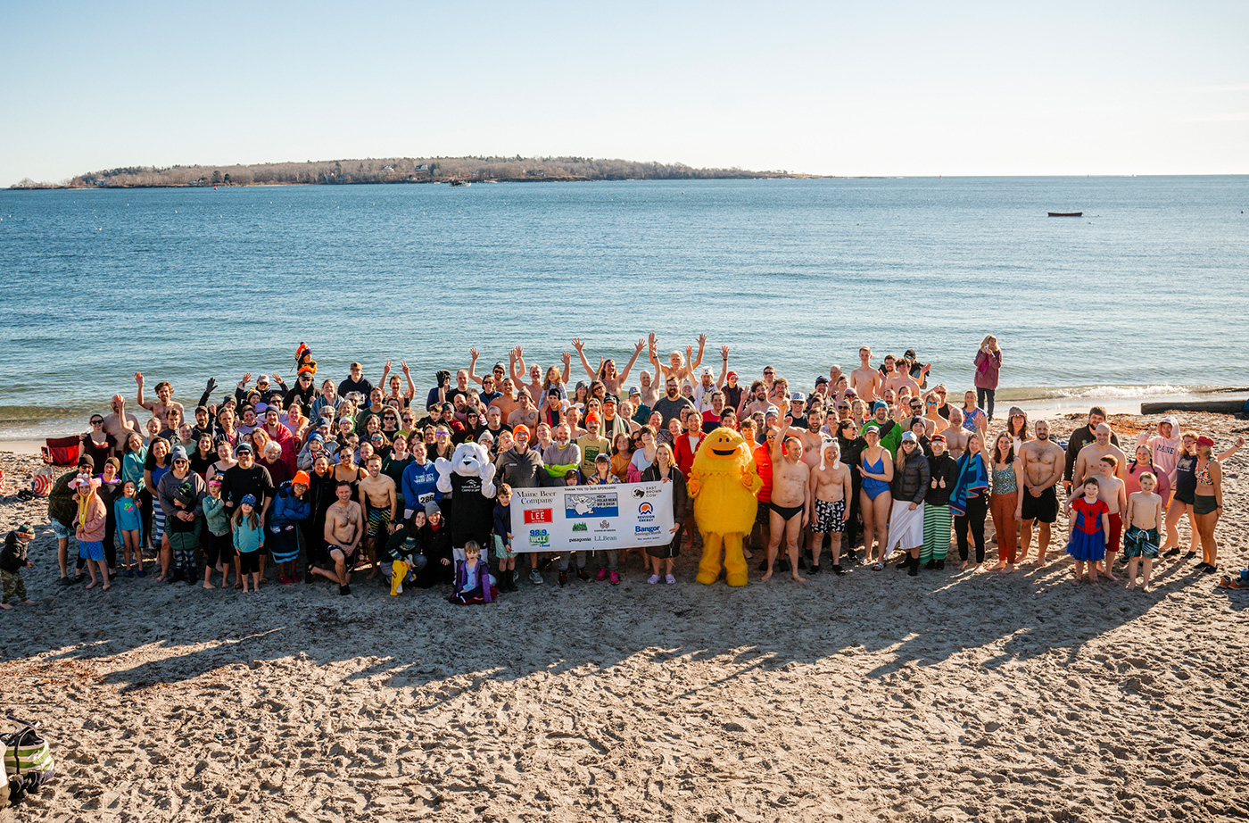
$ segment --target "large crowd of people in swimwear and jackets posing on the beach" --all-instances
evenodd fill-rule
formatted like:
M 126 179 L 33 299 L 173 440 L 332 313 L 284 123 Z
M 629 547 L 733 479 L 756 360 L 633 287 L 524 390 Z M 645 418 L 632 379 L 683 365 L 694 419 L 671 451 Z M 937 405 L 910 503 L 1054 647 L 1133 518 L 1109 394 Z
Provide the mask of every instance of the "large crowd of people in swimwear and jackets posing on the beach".
M 473 348 L 467 368 L 435 375 L 423 402 L 406 362 L 396 373 L 387 361 L 376 386 L 358 362 L 335 381 L 318 376 L 304 345 L 290 385 L 247 373 L 214 402 L 209 380 L 190 411 L 166 381 L 145 395 L 136 373 L 136 405 L 150 417 L 141 422 L 115 395 L 107 415 L 91 416 L 77 467 L 52 486 L 61 584 L 86 576 L 86 588 L 107 589 L 117 574 L 145 577 L 151 567 L 159 581 L 255 591 L 271 562 L 282 584 L 321 578 L 347 594 L 352 574 L 368 568 L 370 578 L 391 579 L 392 593 L 405 583 L 450 586 L 456 602 L 485 602 L 523 579 L 510 533 L 515 488 L 639 481 L 671 485 L 672 541 L 646 549 L 644 561 L 649 583 L 674 583 L 673 558 L 687 537 L 699 540 L 684 478 L 722 426 L 751 445 L 763 481 L 748 541 L 762 554 L 763 581 L 778 569 L 798 581 L 826 567 L 844 574 L 856 562 L 881 569 L 894 552 L 909 574 L 939 569 L 952 536 L 959 568 L 979 567 L 989 517 L 994 568 L 1027 562 L 1034 538 L 1043 566 L 1060 508 L 1075 582 L 1117 579 L 1122 549 L 1128 587 L 1143 561 L 1148 588 L 1153 562 L 1182 553 L 1185 516 L 1185 558 L 1199 547 L 1200 569 L 1217 568 L 1222 461 L 1243 440 L 1215 455 L 1212 437 L 1180 432 L 1168 417 L 1129 457 L 1099 407 L 1065 448 L 1048 421 L 1029 425 L 1018 407 L 990 436 L 1002 367 L 993 336 L 975 353 L 974 388 L 962 403 L 944 383 L 929 386 L 929 365 L 911 350 L 874 362 L 864 346 L 857 368 L 833 366 L 804 393 L 771 366 L 743 381 L 727 346 L 718 370 L 704 365 L 706 342 L 699 336 L 661 360 L 651 335 L 620 368 L 611 357 L 592 365 L 573 340 L 586 375 L 576 382 L 570 352 L 542 368 L 517 346 L 478 373 Z M 629 385 L 643 352 L 651 370 Z M 437 488 L 435 461 L 465 442 L 493 463 L 497 495 L 486 505 Z M 26 599 L 21 568 L 32 535 L 24 526 L 5 538 L 5 607 Z M 593 553 L 597 579 L 620 582 L 617 554 Z M 530 553 L 528 579 L 543 583 L 553 564 L 561 586 L 571 573 L 588 579 L 590 559 L 583 551 Z

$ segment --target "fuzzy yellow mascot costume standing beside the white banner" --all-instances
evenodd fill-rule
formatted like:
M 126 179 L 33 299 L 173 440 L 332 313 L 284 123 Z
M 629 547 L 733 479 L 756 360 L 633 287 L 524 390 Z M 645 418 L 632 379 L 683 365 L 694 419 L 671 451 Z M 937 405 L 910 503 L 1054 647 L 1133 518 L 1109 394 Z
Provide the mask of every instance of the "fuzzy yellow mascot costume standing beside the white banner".
M 732 428 L 717 428 L 707 435 L 686 488 L 694 498 L 694 522 L 703 537 L 703 558 L 698 563 L 699 583 L 711 586 L 719 578 L 719 552 L 724 549 L 724 578 L 729 586 L 746 586 L 746 556 L 742 541 L 754 527 L 763 481 L 754 468 L 751 445 Z

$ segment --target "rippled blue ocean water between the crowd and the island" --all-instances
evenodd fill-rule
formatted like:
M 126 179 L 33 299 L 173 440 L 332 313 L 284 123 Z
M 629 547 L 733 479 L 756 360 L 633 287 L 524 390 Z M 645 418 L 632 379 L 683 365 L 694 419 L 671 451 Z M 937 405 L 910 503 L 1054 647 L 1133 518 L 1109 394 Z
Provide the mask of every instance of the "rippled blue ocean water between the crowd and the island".
M 0 440 L 85 428 L 136 370 L 184 401 L 289 373 L 301 341 L 418 392 L 471 346 L 623 362 L 652 331 L 798 388 L 862 343 L 970 387 L 985 333 L 999 400 L 1242 386 L 1245 209 L 1243 176 L 0 191 Z

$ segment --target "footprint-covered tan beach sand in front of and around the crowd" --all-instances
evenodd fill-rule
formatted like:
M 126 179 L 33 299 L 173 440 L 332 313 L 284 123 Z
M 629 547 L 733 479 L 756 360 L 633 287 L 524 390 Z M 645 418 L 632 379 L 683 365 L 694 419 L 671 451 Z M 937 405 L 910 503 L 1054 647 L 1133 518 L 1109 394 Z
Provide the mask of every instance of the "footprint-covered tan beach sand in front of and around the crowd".
M 1180 417 L 1220 450 L 1245 427 Z M 1227 467 L 1224 569 L 1249 549 L 1247 457 Z M 39 531 L 37 604 L 0 613 L 0 689 L 44 724 L 61 771 L 0 819 L 1245 813 L 1249 592 L 1217 589 L 1197 561 L 1160 562 L 1152 593 L 1073 587 L 1065 557 L 804 586 L 752 571 L 729 589 L 692 582 L 688 552 L 677 586 L 647 586 L 631 558 L 618 587 L 526 583 L 477 608 L 380 584 L 86 592 L 54 587 L 45 505 L 11 497 L 31 460 L 0 465 L 0 527 Z

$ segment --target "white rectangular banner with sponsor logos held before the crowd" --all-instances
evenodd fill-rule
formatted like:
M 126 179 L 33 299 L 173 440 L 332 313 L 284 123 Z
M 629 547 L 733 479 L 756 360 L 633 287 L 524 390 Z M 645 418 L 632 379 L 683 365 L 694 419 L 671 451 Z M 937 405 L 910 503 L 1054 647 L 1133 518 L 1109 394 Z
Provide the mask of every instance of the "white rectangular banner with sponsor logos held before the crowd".
M 672 542 L 667 483 L 512 490 L 512 551 L 568 552 Z

